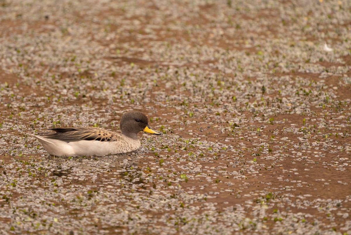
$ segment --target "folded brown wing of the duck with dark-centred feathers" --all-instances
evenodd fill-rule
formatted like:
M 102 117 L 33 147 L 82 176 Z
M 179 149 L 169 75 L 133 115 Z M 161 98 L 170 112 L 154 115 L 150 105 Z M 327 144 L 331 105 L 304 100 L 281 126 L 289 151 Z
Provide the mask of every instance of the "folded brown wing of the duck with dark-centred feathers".
M 107 131 L 102 128 L 93 127 L 77 127 L 77 128 L 53 128 L 49 129 L 55 132 L 45 133 L 42 137 L 49 139 L 59 139 L 65 142 L 74 141 L 117 141 L 120 139 L 120 134 L 112 131 Z

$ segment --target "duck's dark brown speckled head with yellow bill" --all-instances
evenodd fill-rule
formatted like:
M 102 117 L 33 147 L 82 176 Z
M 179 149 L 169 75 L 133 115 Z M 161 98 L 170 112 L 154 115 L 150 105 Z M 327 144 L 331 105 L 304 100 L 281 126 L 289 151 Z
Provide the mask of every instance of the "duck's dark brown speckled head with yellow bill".
M 130 138 L 138 138 L 140 131 L 146 131 L 154 135 L 161 135 L 150 128 L 146 115 L 139 111 L 125 112 L 120 121 L 122 134 Z

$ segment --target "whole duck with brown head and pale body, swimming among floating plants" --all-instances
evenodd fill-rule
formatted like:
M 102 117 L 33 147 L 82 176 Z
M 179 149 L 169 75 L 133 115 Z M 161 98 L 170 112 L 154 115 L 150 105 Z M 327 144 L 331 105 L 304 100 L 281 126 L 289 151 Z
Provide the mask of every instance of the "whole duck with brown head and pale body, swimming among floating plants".
M 139 111 L 125 112 L 120 119 L 121 133 L 95 127 L 68 127 L 48 129 L 51 132 L 31 136 L 38 139 L 48 154 L 53 156 L 105 156 L 132 152 L 140 148 L 138 133 L 153 135 L 147 116 Z

